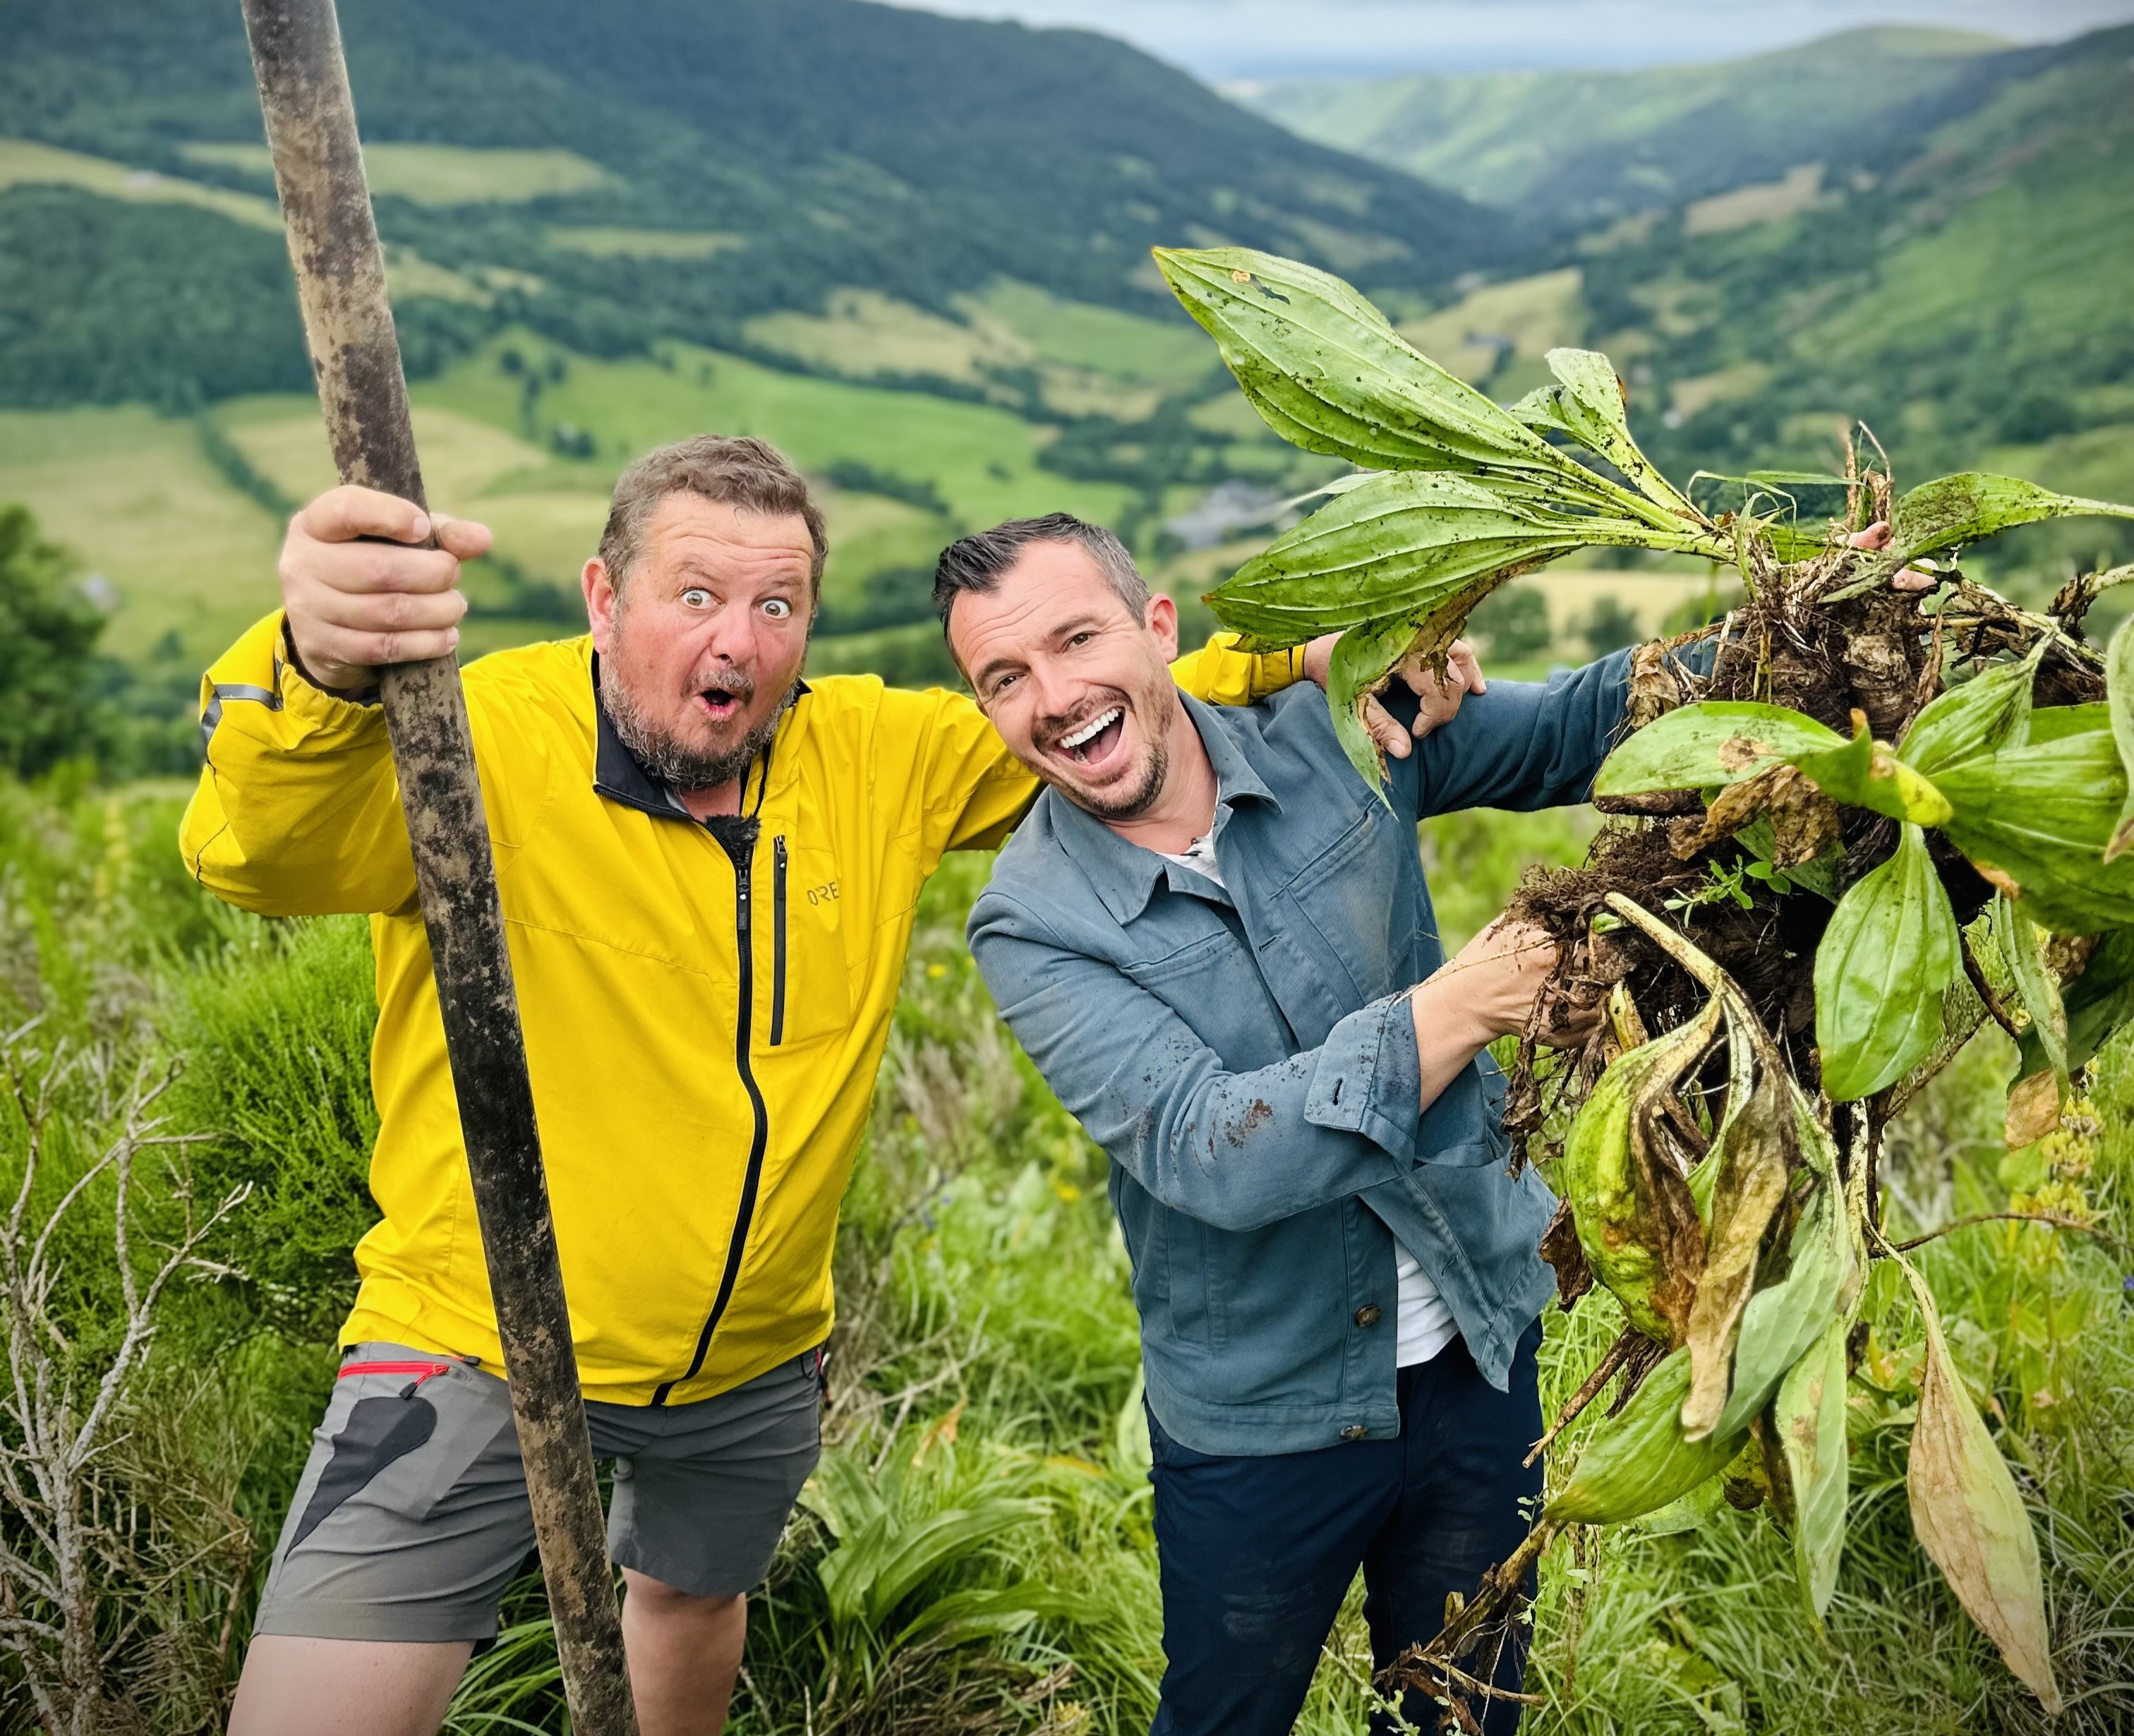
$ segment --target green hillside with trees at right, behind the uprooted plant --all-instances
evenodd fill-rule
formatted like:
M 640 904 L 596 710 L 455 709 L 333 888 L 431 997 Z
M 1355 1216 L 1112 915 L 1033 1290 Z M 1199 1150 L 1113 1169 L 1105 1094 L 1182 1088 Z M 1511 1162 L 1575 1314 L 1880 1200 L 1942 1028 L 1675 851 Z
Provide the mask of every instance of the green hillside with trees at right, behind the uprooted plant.
M 1859 419 L 1899 480 L 1995 468 L 2134 500 L 2134 30 L 1991 60 L 2021 64 L 1880 175 L 1677 201 L 1547 271 L 1396 303 L 1400 329 L 1498 399 L 1543 382 L 1554 344 L 1605 350 L 1677 478 L 1829 470 Z M 2100 555 L 2134 538 L 2047 525 L 1980 564 L 2047 587 Z

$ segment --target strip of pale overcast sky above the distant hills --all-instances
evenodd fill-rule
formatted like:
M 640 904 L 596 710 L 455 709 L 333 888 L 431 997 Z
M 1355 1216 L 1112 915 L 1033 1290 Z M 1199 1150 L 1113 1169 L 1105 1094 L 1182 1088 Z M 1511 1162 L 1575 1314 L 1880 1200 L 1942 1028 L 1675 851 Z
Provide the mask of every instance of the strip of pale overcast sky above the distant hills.
M 1125 36 L 1204 79 L 1726 60 L 1857 23 L 2019 41 L 2134 19 L 2134 0 L 896 0 Z

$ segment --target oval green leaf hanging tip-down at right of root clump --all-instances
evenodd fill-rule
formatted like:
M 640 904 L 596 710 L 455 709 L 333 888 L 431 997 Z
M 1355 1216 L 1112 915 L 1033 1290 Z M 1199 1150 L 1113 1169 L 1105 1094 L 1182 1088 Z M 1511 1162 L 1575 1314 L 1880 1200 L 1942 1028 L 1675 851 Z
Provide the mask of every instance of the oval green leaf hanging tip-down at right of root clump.
M 1816 1046 L 1833 1102 L 1867 1098 L 1933 1053 L 1961 946 L 1927 835 L 1908 824 L 1897 854 L 1837 901 L 1816 948 Z

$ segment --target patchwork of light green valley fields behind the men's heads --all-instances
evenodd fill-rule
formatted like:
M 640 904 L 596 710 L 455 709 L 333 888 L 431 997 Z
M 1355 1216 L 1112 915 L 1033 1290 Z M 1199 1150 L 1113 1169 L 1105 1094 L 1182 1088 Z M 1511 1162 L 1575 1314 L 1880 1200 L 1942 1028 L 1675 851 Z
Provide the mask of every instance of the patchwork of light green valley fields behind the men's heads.
M 1097 357 L 1118 340 L 1129 372 L 1084 369 L 1114 393 L 1154 393 L 1212 365 L 1165 327 L 1003 290 L 988 316 L 1033 354 Z M 1014 316 L 1018 325 L 1005 320 Z M 290 382 L 294 384 L 294 382 Z M 1214 382 L 1210 382 L 1214 384 Z M 830 521 L 817 664 L 873 666 L 883 628 L 905 675 L 943 675 L 928 583 L 941 545 L 1005 517 L 1067 508 L 1125 525 L 1161 568 L 1152 515 L 1197 489 L 1146 489 L 1101 444 L 1065 461 L 1063 429 L 1009 408 L 913 386 L 794 374 L 691 344 L 651 357 L 587 357 L 508 327 L 414 382 L 416 440 L 431 500 L 497 532 L 472 570 L 469 649 L 583 624 L 578 568 L 600 538 L 615 474 L 644 448 L 691 433 L 758 433 L 815 480 Z M 1108 423 L 1076 425 L 1105 429 Z M 1191 451 L 1306 487 L 1332 465 L 1265 431 L 1195 431 Z M 70 547 L 111 609 L 109 643 L 143 658 L 203 662 L 275 602 L 282 517 L 333 480 L 309 391 L 222 399 L 184 414 L 147 406 L 0 410 L 0 500 L 32 506 Z M 1212 583 L 1204 579 L 1201 587 Z M 864 643 L 830 643 L 869 634 Z M 918 662 L 913 662 L 918 658 Z

